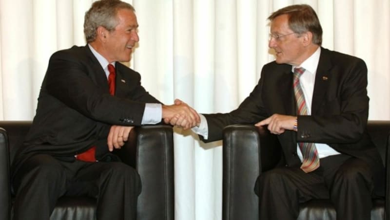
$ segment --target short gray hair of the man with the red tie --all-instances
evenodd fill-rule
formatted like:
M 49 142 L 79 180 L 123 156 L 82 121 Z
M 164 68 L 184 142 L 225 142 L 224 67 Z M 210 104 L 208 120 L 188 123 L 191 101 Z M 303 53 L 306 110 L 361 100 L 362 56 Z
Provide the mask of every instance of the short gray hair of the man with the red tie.
M 84 17 L 84 35 L 87 43 L 95 41 L 99 26 L 104 27 L 110 32 L 115 29 L 118 24 L 118 9 L 136 11 L 131 4 L 120 0 L 98 0 L 92 4 Z

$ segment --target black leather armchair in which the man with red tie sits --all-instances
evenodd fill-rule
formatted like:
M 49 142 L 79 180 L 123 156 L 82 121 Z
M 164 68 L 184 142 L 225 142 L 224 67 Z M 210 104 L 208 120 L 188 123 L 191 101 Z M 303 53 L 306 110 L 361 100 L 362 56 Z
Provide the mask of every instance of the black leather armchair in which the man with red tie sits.
M 13 195 L 10 164 L 31 121 L 0 121 L 0 220 L 10 220 Z M 144 126 L 130 133 L 117 155 L 136 167 L 142 182 L 137 220 L 174 220 L 173 130 L 170 126 Z M 60 198 L 51 220 L 95 220 L 96 201 L 87 197 Z

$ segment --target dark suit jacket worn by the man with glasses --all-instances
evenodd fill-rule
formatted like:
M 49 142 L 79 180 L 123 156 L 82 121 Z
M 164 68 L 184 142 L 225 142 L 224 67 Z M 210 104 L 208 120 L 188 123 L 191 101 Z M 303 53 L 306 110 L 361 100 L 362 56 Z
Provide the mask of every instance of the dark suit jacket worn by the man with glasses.
M 379 152 L 366 132 L 369 112 L 367 67 L 363 60 L 321 48 L 312 98 L 312 115 L 298 116 L 298 132 L 278 135 L 284 165 L 299 166 L 297 142 L 325 143 L 335 150 L 368 162 L 376 177 L 384 176 Z M 220 140 L 231 124 L 255 124 L 274 113 L 296 115 L 292 66 L 266 64 L 253 92 L 237 110 L 206 114 L 207 142 Z M 202 137 L 200 137 L 202 139 Z M 244 146 L 243 146 L 244 147 Z

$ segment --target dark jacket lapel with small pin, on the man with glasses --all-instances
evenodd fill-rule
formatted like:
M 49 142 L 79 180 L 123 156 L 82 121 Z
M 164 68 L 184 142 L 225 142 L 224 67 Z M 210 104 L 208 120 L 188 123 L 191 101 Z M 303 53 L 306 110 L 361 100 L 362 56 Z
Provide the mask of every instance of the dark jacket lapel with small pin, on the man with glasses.
M 328 51 L 321 48 L 321 55 L 318 62 L 317 72 L 315 74 L 314 91 L 312 98 L 312 114 L 318 111 L 321 103 L 328 91 L 329 82 L 331 81 L 331 59 Z

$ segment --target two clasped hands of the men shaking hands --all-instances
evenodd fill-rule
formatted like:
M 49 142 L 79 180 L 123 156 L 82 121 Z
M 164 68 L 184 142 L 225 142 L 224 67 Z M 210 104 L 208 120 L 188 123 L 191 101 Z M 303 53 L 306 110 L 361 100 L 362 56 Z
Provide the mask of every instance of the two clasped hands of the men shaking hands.
M 183 129 L 199 126 L 199 114 L 183 101 L 176 99 L 174 105 L 162 106 L 162 118 L 166 124 Z

